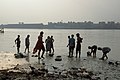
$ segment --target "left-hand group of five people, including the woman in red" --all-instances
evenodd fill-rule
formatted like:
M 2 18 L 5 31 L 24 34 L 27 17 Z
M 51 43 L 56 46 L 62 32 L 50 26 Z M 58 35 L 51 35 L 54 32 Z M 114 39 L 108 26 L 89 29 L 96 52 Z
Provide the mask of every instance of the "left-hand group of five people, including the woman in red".
M 44 47 L 44 41 L 43 41 L 43 34 L 44 32 L 41 31 L 40 32 L 40 35 L 38 36 L 38 40 L 37 40 L 37 43 L 33 49 L 33 54 L 36 53 L 38 51 L 38 59 L 40 58 L 44 58 L 43 55 L 44 55 L 44 52 L 45 52 L 45 47 Z M 28 53 L 30 52 L 29 51 L 29 46 L 30 46 L 30 40 L 29 40 L 29 37 L 30 35 L 27 35 L 27 37 L 25 38 L 25 51 L 24 53 L 26 53 L 26 50 L 28 50 Z M 51 49 L 52 49 L 52 54 L 54 53 L 54 47 L 53 47 L 53 42 L 54 42 L 54 39 L 53 39 L 53 36 L 48 36 L 47 39 L 45 40 L 45 43 L 46 43 L 46 53 L 49 51 L 49 53 L 51 53 Z M 21 44 L 21 41 L 20 41 L 20 35 L 18 35 L 18 37 L 15 39 L 15 44 L 17 45 L 17 53 L 20 53 L 20 44 Z M 40 52 L 42 50 L 42 55 L 40 57 Z

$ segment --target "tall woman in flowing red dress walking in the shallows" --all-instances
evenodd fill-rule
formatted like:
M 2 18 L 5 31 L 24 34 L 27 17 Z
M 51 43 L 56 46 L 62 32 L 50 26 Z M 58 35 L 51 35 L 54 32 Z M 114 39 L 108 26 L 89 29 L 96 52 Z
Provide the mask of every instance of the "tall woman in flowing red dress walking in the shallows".
M 41 50 L 42 50 L 41 58 L 44 58 L 43 55 L 44 55 L 44 52 L 45 52 L 45 47 L 43 45 L 43 43 L 44 43 L 43 42 L 43 34 L 44 34 L 44 32 L 41 31 L 40 35 L 38 36 L 38 41 L 37 41 L 37 43 L 35 45 L 35 48 L 33 49 L 33 54 L 35 54 L 37 52 L 37 50 L 39 50 L 38 51 L 38 59 L 40 59 L 40 51 Z

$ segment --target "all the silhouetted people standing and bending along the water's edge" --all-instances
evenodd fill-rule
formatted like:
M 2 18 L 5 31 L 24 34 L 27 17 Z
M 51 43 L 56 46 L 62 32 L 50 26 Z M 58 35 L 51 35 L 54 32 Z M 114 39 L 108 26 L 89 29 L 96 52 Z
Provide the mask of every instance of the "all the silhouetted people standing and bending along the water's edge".
M 41 59 L 41 58 L 44 58 L 44 53 L 45 53 L 45 50 L 46 50 L 46 53 L 50 53 L 51 54 L 51 50 L 52 50 L 52 54 L 54 54 L 54 47 L 53 47 L 53 42 L 54 42 L 54 39 L 53 39 L 53 36 L 48 36 L 47 39 L 45 40 L 45 43 L 46 43 L 46 49 L 44 47 L 44 41 L 43 41 L 43 34 L 44 32 L 41 31 L 40 32 L 40 35 L 38 36 L 38 40 L 37 40 L 37 43 L 33 49 L 33 54 L 35 54 L 37 51 L 38 51 L 38 59 Z M 26 50 L 28 50 L 28 53 L 30 52 L 29 51 L 29 46 L 30 46 L 30 41 L 29 41 L 29 37 L 30 35 L 27 35 L 27 37 L 25 38 L 25 53 L 26 53 Z M 75 38 L 74 38 L 74 35 L 72 34 L 71 36 L 68 36 L 68 45 L 67 47 L 69 47 L 69 55 L 68 57 L 73 57 L 73 53 L 74 53 L 74 48 L 75 48 L 75 44 L 76 44 L 76 58 L 79 56 L 81 56 L 81 43 L 83 41 L 83 38 L 80 37 L 80 34 L 77 33 L 76 34 L 76 37 L 77 37 L 77 42 L 75 43 Z M 15 44 L 17 44 L 17 52 L 19 53 L 20 52 L 20 35 L 18 35 L 18 37 L 15 39 Z M 93 45 L 93 46 L 88 46 L 88 49 L 90 49 L 91 51 L 88 51 L 87 52 L 87 55 L 88 56 L 91 56 L 91 54 L 93 54 L 93 57 L 96 57 L 96 51 L 97 49 L 98 50 L 101 50 L 103 52 L 103 56 L 102 58 L 100 58 L 101 60 L 104 60 L 104 58 L 106 57 L 106 59 L 108 59 L 107 57 L 107 53 L 109 53 L 111 51 L 111 49 L 109 47 L 97 47 L 96 45 Z M 41 57 L 40 57 L 40 52 L 42 50 L 42 54 L 41 54 Z

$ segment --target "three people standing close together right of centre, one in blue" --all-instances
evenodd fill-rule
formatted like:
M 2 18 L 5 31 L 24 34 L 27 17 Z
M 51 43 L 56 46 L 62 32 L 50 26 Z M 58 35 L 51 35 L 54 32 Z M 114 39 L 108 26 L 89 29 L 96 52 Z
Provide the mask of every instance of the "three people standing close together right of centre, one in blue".
M 83 38 L 80 37 L 80 34 L 77 33 L 76 34 L 77 37 L 77 44 L 76 44 L 76 58 L 79 54 L 79 58 L 81 55 L 81 43 Z M 68 45 L 67 47 L 69 47 L 69 55 L 68 57 L 73 57 L 73 52 L 74 52 L 74 48 L 75 48 L 75 39 L 74 39 L 74 35 L 72 34 L 71 37 L 68 36 Z

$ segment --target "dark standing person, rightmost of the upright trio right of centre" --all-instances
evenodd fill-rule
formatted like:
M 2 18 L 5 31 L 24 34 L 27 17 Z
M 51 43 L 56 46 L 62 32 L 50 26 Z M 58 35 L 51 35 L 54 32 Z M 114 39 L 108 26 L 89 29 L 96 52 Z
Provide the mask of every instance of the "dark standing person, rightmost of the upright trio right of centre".
M 81 55 L 81 43 L 82 43 L 83 38 L 80 37 L 79 33 L 77 33 L 76 36 L 77 36 L 76 58 L 77 58 L 78 52 L 79 52 L 79 58 L 80 58 L 80 55 Z

